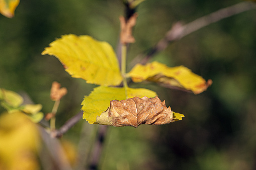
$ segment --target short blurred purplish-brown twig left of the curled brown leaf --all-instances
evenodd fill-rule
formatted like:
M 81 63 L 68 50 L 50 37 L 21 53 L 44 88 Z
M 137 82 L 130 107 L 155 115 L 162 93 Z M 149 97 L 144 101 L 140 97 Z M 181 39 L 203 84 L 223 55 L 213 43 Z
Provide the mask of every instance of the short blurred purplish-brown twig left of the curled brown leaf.
M 73 125 L 75 125 L 82 118 L 82 111 L 77 113 L 75 116 L 71 117 L 63 126 L 61 126 L 58 130 L 54 130 L 51 132 L 52 137 L 61 137 L 64 133 L 66 133 Z

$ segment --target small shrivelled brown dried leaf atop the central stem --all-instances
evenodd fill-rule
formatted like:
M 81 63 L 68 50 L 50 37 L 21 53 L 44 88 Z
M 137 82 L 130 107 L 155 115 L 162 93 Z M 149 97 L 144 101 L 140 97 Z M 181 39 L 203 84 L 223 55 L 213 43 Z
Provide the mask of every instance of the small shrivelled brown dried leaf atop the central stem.
M 128 21 L 125 21 L 125 18 L 123 16 L 119 18 L 121 24 L 120 41 L 123 45 L 135 42 L 135 39 L 132 36 L 132 28 L 136 24 L 137 17 L 138 15 L 135 13 L 129 18 Z

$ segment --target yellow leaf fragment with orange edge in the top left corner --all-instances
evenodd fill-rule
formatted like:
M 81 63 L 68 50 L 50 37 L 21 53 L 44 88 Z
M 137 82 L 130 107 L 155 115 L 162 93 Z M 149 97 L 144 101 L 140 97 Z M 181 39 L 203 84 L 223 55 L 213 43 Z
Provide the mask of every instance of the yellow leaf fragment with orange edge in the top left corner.
M 20 0 L 0 0 L 0 13 L 8 18 L 13 18 L 19 3 Z

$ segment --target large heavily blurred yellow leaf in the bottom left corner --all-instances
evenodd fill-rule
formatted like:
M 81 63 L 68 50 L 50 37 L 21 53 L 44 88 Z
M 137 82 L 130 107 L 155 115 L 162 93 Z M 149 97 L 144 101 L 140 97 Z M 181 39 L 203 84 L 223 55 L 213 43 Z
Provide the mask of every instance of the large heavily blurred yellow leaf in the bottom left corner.
M 37 126 L 20 111 L 0 117 L 0 168 L 39 169 Z

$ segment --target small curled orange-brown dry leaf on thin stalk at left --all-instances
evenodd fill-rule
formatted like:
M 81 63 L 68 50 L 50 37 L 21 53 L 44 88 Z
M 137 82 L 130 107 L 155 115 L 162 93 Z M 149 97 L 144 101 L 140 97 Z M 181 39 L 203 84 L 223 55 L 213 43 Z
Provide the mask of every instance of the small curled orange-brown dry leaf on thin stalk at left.
M 53 101 L 60 100 L 66 94 L 67 89 L 65 87 L 60 88 L 60 84 L 56 81 L 52 83 L 50 97 Z

